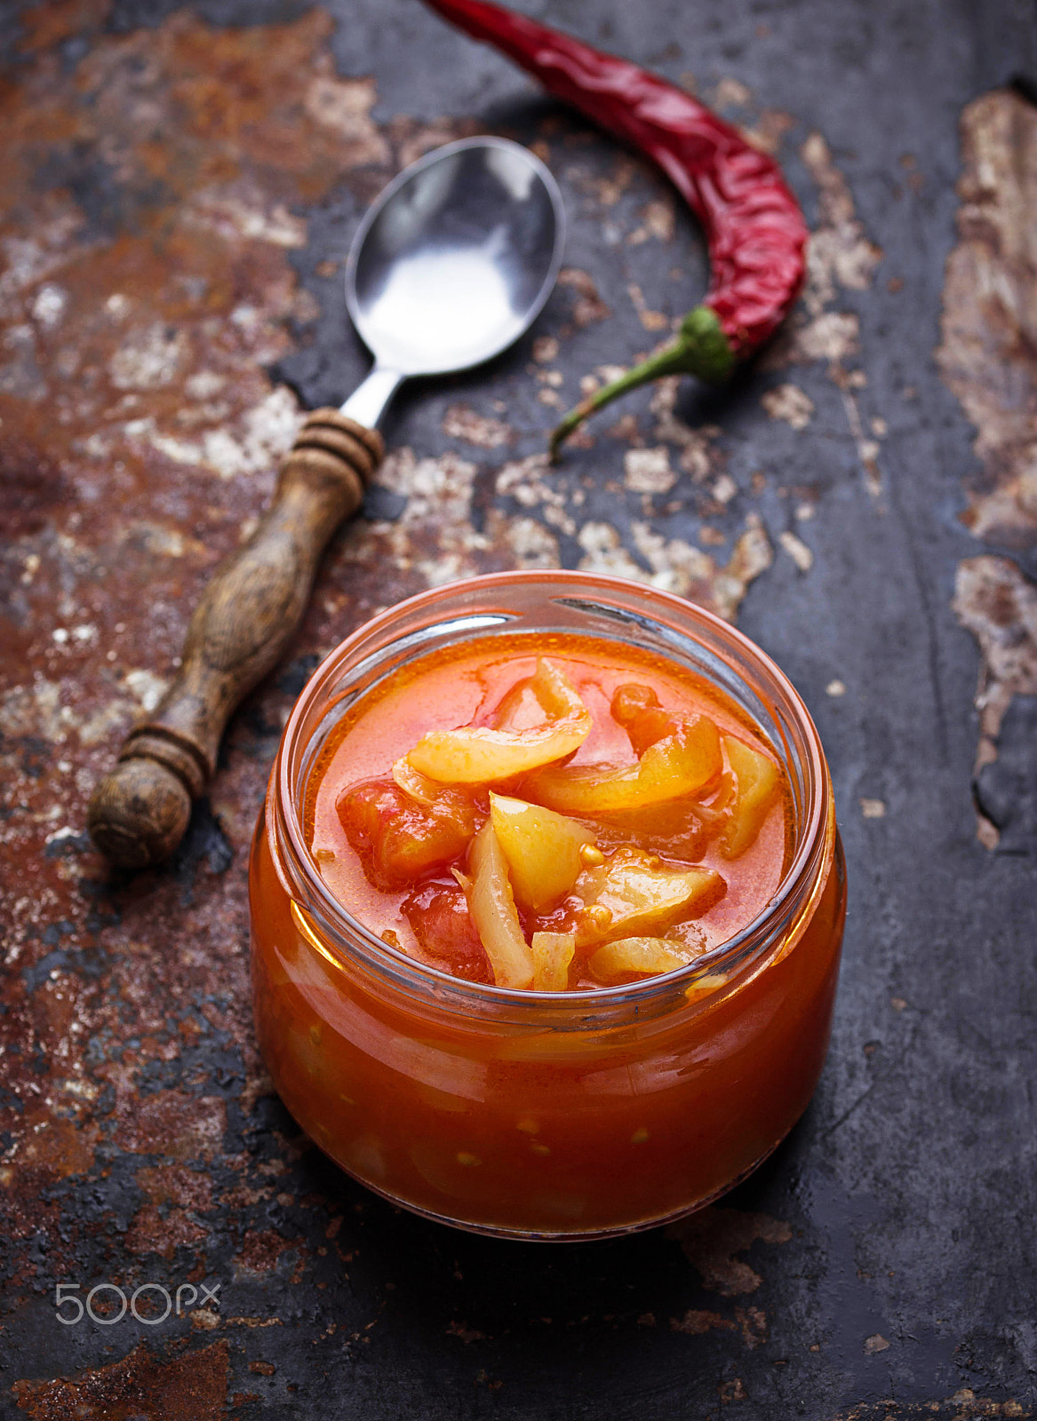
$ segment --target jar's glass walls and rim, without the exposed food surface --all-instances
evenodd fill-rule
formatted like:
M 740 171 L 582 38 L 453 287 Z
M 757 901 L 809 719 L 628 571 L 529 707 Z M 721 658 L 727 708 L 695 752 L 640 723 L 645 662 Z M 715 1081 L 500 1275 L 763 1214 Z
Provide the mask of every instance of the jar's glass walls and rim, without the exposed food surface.
M 430 651 L 580 632 L 703 676 L 753 720 L 792 800 L 788 868 L 748 926 L 687 968 L 562 993 L 459 980 L 394 951 L 323 884 L 307 776 L 357 698 Z M 700 1208 L 792 1128 L 828 1046 L 845 868 L 821 742 L 781 671 L 703 608 L 637 583 L 501 573 L 376 617 L 284 729 L 250 863 L 259 1043 L 282 1100 L 343 1169 L 484 1233 L 595 1238 Z

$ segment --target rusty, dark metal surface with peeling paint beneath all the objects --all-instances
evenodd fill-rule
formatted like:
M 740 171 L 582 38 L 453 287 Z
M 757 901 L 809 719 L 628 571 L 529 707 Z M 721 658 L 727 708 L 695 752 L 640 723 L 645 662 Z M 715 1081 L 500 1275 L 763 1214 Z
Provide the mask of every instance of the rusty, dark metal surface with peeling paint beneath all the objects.
M 1037 68 L 1031 7 L 551 18 L 751 129 L 814 232 L 788 331 L 731 391 L 633 395 L 556 469 L 558 412 L 703 287 L 647 165 L 411 0 L 0 16 L 3 1417 L 1037 1407 L 1037 109 L 1000 88 Z M 90 789 L 302 411 L 366 368 L 341 294 L 358 215 L 478 131 L 562 183 L 558 291 L 508 355 L 407 391 L 176 860 L 112 878 Z M 851 915 L 792 1138 L 674 1229 L 548 1250 L 398 1214 L 300 1138 L 252 1039 L 245 909 L 319 657 L 431 583 L 553 564 L 698 598 L 775 655 L 828 747 Z M 58 1283 L 182 1287 L 182 1316 L 155 1323 L 152 1292 L 112 1322 L 110 1290 L 63 1326 Z

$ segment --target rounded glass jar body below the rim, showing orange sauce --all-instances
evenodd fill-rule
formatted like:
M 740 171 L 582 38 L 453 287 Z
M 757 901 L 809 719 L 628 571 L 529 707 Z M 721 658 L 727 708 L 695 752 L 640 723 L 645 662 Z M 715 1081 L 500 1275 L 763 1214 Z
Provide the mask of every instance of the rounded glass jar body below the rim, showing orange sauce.
M 538 576 L 572 591 L 575 574 Z M 623 585 L 593 581 L 599 598 Z M 441 593 L 450 620 L 457 607 Z M 698 635 L 704 615 L 693 617 Z M 370 665 L 370 645 L 350 657 Z M 320 675 L 326 691 L 343 684 L 339 668 Z M 317 691 L 310 728 L 320 709 Z M 845 914 L 824 759 L 818 794 L 802 801 L 807 871 L 772 922 L 673 980 L 538 1002 L 408 966 L 358 925 L 329 922 L 286 833 L 290 736 L 304 720 L 289 723 L 253 841 L 253 1006 L 279 1094 L 337 1164 L 444 1222 L 593 1238 L 701 1206 L 784 1138 L 824 1063 Z

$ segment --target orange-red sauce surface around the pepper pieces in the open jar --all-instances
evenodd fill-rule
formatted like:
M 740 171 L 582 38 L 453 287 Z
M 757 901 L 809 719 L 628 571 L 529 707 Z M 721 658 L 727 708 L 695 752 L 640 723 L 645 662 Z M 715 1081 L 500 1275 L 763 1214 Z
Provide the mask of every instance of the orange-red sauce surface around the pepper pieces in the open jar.
M 734 936 L 767 907 L 787 864 L 791 804 L 777 762 L 735 705 L 701 678 L 639 648 L 586 635 L 504 634 L 451 647 L 417 659 L 351 706 L 330 733 L 310 772 L 303 806 L 306 841 L 326 885 L 354 918 L 391 946 L 472 980 L 494 982 L 495 971 L 496 980 L 501 979 L 499 966 L 494 966 L 496 959 L 484 959 L 479 934 L 472 926 L 471 914 L 465 912 L 472 901 L 471 843 L 455 845 L 461 851 L 450 861 L 418 871 L 403 884 L 387 882 L 373 868 L 371 855 L 366 851 L 364 845 L 373 840 L 370 836 L 366 840 L 357 828 L 357 803 L 364 797 L 371 800 L 376 793 L 381 793 L 383 799 L 385 794 L 395 796 L 394 803 L 403 803 L 401 791 L 393 782 L 394 764 L 407 763 L 430 732 L 452 732 L 457 728 L 492 730 L 506 723 L 508 730 L 522 740 L 536 735 L 543 725 L 549 726 L 551 715 L 538 691 L 545 662 L 549 669 L 553 668 L 552 674 L 562 674 L 589 713 L 589 729 L 582 743 L 575 753 L 558 762 L 566 769 L 597 766 L 603 773 L 623 769 L 636 773 L 647 750 L 644 743 L 639 743 L 637 753 L 632 743 L 637 739 L 634 730 L 613 715 L 620 688 L 650 695 L 659 710 L 671 720 L 676 718 L 674 723 L 680 726 L 701 726 L 701 718 L 716 726 L 724 746 L 723 770 L 697 796 L 677 794 L 639 810 L 634 814 L 636 833 L 630 831 L 629 814 L 576 813 L 568 818 L 585 826 L 593 836 L 593 843 L 582 850 L 590 877 L 602 858 L 605 867 L 597 867 L 599 878 L 623 854 L 640 854 L 639 867 L 654 863 L 661 872 L 694 867 L 723 881 L 698 908 L 677 914 L 659 932 L 653 929 L 653 941 L 666 941 L 684 961 L 693 961 Z M 684 735 L 683 729 L 680 735 Z M 650 740 L 650 736 L 642 735 L 640 739 Z M 725 851 L 723 830 L 738 807 L 734 750 L 740 752 L 743 762 L 748 755 L 768 773 L 772 770 L 774 787 L 754 811 L 748 841 L 731 854 L 730 843 Z M 475 816 L 471 828 L 489 817 L 489 790 L 506 796 L 508 804 L 516 800 L 535 803 L 538 783 L 538 773 L 533 772 L 478 784 L 434 782 L 432 789 L 467 796 L 465 803 L 474 806 Z M 377 791 L 373 786 L 384 786 L 384 790 Z M 743 807 L 744 789 L 743 782 Z M 498 803 L 498 810 L 502 803 L 505 800 Z M 421 813 L 420 806 L 415 813 Z M 698 826 L 701 833 L 684 833 L 683 838 L 674 838 L 674 816 L 686 826 Z M 730 838 L 730 827 L 727 833 Z M 377 837 L 376 833 L 374 840 Z M 632 848 L 632 844 L 637 847 Z M 514 868 L 511 878 L 515 880 Z M 538 931 L 576 935 L 572 966 L 562 982 L 570 989 L 652 975 L 650 971 L 624 971 L 613 965 L 613 975 L 603 980 L 600 969 L 599 975 L 589 969 L 593 948 L 600 945 L 600 938 L 593 944 L 580 941 L 580 935 L 586 936 L 587 922 L 580 891 L 586 891 L 582 885 L 589 881 L 585 874 L 570 894 L 546 909 L 531 911 L 528 905 L 521 905 L 519 924 L 525 938 Z M 603 901 L 613 899 L 606 895 Z M 420 931 L 415 931 L 415 922 Z M 639 941 L 646 941 L 643 934 Z

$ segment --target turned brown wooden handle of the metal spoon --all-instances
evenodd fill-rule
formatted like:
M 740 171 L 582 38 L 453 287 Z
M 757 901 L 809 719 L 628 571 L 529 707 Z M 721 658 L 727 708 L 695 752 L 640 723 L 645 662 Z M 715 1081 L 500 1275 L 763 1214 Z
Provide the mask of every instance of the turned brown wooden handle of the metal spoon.
M 230 712 L 299 628 L 320 554 L 363 502 L 381 455 L 381 435 L 337 409 L 307 416 L 273 503 L 195 608 L 176 679 L 94 790 L 87 827 L 112 863 L 142 868 L 179 844 Z

